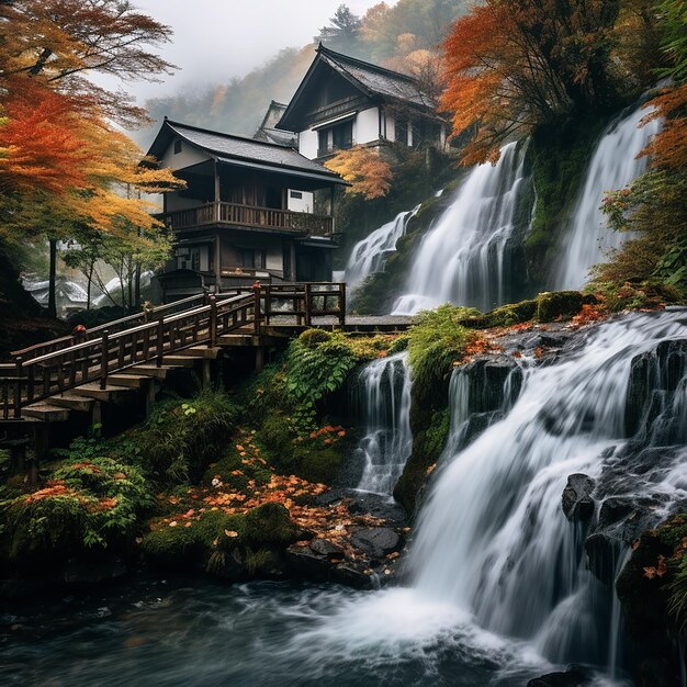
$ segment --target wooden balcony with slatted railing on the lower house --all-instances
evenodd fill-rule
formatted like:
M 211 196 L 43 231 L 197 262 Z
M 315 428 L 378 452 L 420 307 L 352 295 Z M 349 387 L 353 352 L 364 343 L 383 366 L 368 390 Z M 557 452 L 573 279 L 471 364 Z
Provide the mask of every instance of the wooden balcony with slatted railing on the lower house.
M 334 217 L 291 210 L 257 207 L 236 203 L 207 203 L 198 207 L 156 215 L 173 232 L 209 225 L 289 232 L 304 236 L 331 236 Z

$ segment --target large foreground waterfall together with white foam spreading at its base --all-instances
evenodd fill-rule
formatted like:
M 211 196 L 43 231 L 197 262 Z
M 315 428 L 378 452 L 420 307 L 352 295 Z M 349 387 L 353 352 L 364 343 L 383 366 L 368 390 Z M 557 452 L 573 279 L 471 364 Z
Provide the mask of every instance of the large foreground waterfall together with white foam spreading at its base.
M 610 674 L 610 595 L 585 567 L 561 494 L 572 473 L 598 477 L 628 441 L 632 359 L 685 337 L 685 311 L 633 314 L 595 328 L 555 364 L 526 367 L 503 419 L 460 452 L 448 441 L 412 545 L 410 586 L 347 601 L 292 649 L 316 647 L 315 662 L 326 654 L 403 662 L 438 642 L 510 668 L 577 661 Z M 685 382 L 664 408 L 668 424 L 687 417 Z M 466 386 L 452 390 L 455 435 L 468 417 Z M 622 469 L 629 495 L 661 497 L 657 520 L 687 498 L 685 453 L 646 474 Z

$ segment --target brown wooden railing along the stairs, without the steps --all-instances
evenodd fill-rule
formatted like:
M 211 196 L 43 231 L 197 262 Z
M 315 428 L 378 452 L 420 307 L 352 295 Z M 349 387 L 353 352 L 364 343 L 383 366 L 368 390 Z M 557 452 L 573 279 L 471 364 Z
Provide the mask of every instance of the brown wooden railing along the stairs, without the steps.
M 176 351 L 216 346 L 219 336 L 241 327 L 250 326 L 259 336 L 262 326 L 279 318 L 285 318 L 284 324 L 295 319 L 301 326 L 309 326 L 316 316 L 336 316 L 340 325 L 346 322 L 346 284 L 266 285 L 210 296 L 205 305 L 190 301 L 170 304 L 184 303 L 180 313 L 158 308 L 156 320 L 120 331 L 100 327 L 97 338 L 82 344 L 64 346 L 64 339 L 56 339 L 44 344 L 43 351 L 37 347 L 18 351 L 12 362 L 0 365 L 0 420 L 20 420 L 24 406 L 81 384 L 99 382 L 105 388 L 109 375 L 134 365 L 155 361 L 159 367 L 165 356 Z

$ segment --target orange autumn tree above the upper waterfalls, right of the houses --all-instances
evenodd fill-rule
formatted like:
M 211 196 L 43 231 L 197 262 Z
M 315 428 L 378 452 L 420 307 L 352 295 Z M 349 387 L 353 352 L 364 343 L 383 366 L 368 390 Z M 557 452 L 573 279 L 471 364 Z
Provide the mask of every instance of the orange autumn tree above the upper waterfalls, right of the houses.
M 442 108 L 453 134 L 476 126 L 466 162 L 541 123 L 584 116 L 616 102 L 611 50 L 616 0 L 486 0 L 443 43 Z

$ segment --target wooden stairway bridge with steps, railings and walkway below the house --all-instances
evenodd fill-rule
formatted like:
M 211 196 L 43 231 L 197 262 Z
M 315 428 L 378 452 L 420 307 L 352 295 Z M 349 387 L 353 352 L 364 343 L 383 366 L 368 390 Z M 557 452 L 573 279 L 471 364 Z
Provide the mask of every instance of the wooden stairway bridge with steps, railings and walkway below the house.
M 71 414 L 99 421 L 101 403 L 143 392 L 146 413 L 155 382 L 178 369 L 210 364 L 223 348 L 249 347 L 260 369 L 264 351 L 284 346 L 307 327 L 349 331 L 393 331 L 409 318 L 346 316 L 346 284 L 318 282 L 238 288 L 216 296 L 201 294 L 132 315 L 86 333 L 31 346 L 0 364 L 0 448 L 31 433 L 42 449 L 48 424 Z M 9 443 L 8 443 L 9 442 Z

